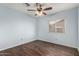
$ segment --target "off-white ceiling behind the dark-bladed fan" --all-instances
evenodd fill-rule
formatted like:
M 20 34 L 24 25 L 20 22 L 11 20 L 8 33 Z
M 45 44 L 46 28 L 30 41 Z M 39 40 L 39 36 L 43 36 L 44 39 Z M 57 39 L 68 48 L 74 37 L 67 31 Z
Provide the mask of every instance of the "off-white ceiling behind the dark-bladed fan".
M 36 6 L 34 3 L 30 3 L 31 6 L 26 6 L 24 3 L 4 3 L 4 4 L 0 4 L 0 5 L 7 6 L 9 8 L 27 13 L 31 16 L 35 15 L 34 11 L 27 11 L 27 9 L 36 9 Z M 42 5 L 43 5 L 43 8 L 45 8 L 45 7 L 53 8 L 50 11 L 45 11 L 49 15 L 49 14 L 53 14 L 53 13 L 60 12 L 63 10 L 75 8 L 79 4 L 78 3 L 42 3 Z

